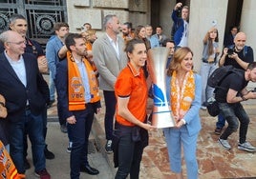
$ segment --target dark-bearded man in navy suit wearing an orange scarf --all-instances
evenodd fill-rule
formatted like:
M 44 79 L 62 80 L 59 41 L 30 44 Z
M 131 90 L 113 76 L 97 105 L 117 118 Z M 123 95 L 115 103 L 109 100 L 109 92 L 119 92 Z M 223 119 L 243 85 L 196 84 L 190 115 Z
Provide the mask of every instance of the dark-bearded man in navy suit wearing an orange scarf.
M 65 39 L 67 58 L 56 65 L 56 90 L 59 108 L 68 125 L 71 149 L 72 179 L 78 179 L 80 171 L 96 175 L 97 169 L 88 162 L 88 140 L 94 113 L 100 109 L 100 97 L 96 74 L 88 59 L 81 34 L 70 33 Z

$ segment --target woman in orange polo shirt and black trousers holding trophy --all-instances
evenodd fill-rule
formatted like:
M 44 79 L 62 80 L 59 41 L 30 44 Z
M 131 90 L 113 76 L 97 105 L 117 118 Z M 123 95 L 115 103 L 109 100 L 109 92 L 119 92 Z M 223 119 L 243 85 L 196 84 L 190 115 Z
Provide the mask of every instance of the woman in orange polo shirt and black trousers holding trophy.
M 143 149 L 148 145 L 147 130 L 155 129 L 147 122 L 147 85 L 142 70 L 147 60 L 145 44 L 140 39 L 128 42 L 125 49 L 129 62 L 120 71 L 115 85 L 117 97 L 114 130 L 114 162 L 116 179 L 139 178 Z

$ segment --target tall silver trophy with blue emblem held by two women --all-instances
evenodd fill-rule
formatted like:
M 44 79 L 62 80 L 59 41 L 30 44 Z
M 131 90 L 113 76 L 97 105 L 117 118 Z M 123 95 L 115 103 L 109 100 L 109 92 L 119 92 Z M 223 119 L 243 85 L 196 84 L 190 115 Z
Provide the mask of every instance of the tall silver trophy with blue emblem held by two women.
M 174 117 L 166 96 L 166 63 L 169 55 L 167 48 L 159 47 L 148 51 L 148 70 L 152 79 L 153 113 L 151 124 L 158 129 L 175 126 Z

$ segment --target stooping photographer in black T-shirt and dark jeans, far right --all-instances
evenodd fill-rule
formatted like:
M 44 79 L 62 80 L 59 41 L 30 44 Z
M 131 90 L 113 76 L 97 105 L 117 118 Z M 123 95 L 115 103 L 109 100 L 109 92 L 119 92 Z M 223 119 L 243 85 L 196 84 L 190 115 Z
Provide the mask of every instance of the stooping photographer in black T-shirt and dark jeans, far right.
M 246 89 L 249 81 L 256 82 L 256 62 L 250 63 L 246 70 L 228 74 L 216 90 L 215 99 L 228 124 L 218 140 L 224 149 L 231 149 L 227 139 L 239 129 L 238 149 L 256 151 L 256 148 L 246 141 L 250 120 L 241 104 L 245 100 L 256 98 L 256 92 Z

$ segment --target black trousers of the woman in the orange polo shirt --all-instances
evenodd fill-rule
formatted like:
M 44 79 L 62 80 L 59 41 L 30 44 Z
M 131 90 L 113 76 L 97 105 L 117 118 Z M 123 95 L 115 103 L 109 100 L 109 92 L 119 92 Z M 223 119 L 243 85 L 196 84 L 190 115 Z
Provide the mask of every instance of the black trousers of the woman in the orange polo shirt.
M 148 132 L 139 127 L 124 127 L 116 123 L 114 160 L 118 167 L 115 179 L 139 179 L 143 149 L 148 145 Z

